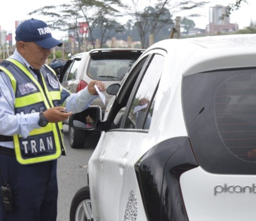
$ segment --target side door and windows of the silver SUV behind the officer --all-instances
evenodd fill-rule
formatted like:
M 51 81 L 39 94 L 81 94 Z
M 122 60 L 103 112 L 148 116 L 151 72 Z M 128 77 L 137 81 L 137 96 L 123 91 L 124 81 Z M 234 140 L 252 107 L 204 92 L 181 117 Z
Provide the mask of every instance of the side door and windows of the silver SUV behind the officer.
M 81 55 L 71 58 L 65 65 L 63 73 L 60 76 L 61 85 L 72 93 L 77 92 L 77 72 L 79 65 L 81 65 Z

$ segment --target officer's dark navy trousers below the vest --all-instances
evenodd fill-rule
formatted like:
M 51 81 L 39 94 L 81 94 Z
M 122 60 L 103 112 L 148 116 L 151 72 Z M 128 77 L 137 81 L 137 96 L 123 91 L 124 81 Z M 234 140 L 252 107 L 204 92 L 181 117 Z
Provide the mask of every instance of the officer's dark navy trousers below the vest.
M 0 154 L 0 173 L 15 204 L 13 212 L 6 211 L 0 197 L 0 221 L 56 221 L 57 160 L 21 165 L 15 156 Z

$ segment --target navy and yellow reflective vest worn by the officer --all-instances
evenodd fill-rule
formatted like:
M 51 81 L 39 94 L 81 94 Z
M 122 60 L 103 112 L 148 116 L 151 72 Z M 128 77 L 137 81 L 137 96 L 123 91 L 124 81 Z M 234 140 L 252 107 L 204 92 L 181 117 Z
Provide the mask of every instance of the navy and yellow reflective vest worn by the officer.
M 45 68 L 41 72 L 45 90 L 36 78 L 14 59 L 6 59 L 10 63 L 0 70 L 4 71 L 12 82 L 15 93 L 15 114 L 40 112 L 54 107 L 54 102 L 60 104 L 60 87 L 56 84 L 55 73 Z M 13 135 L 16 159 L 20 164 L 34 164 L 57 159 L 61 152 L 65 153 L 62 135 L 62 122 L 48 123 L 46 127 L 34 129 L 27 138 L 20 134 Z

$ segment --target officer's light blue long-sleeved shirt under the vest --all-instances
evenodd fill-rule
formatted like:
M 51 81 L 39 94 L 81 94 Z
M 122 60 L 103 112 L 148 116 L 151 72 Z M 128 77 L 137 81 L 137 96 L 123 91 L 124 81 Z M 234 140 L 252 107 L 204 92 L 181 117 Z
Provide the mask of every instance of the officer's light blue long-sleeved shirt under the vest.
M 22 63 L 36 77 L 35 73 L 30 69 L 29 63 L 18 53 L 14 51 L 10 57 Z M 32 67 L 33 68 L 33 67 Z M 37 77 L 36 77 L 37 78 Z M 89 107 L 97 95 L 91 95 L 86 88 L 78 93 L 70 93 L 61 87 L 61 102 L 65 103 L 68 111 L 73 113 L 81 112 Z M 10 78 L 0 71 L 0 134 L 12 136 L 21 134 L 22 137 L 27 137 L 33 129 L 38 129 L 39 112 L 28 114 L 14 113 L 15 95 L 12 90 Z M 0 142 L 0 146 L 13 148 L 13 142 Z

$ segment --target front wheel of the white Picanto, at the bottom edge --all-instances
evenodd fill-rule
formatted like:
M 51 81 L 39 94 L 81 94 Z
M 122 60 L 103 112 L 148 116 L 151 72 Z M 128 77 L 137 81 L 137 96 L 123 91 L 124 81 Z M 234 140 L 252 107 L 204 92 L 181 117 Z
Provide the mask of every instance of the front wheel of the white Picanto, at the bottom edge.
M 90 188 L 83 187 L 78 190 L 72 199 L 70 206 L 70 221 L 92 221 Z

